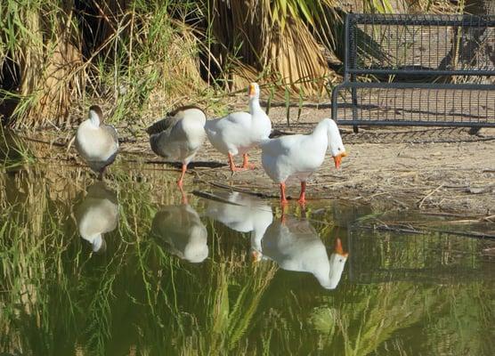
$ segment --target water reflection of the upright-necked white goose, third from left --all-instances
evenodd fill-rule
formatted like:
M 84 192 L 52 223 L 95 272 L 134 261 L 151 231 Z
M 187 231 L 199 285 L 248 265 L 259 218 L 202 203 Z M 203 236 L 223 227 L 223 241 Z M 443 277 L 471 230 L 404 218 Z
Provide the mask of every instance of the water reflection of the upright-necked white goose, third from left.
M 263 199 L 237 191 L 218 192 L 215 196 L 233 204 L 208 200 L 207 216 L 239 232 L 251 232 L 251 244 L 263 238 L 273 221 L 272 206 Z

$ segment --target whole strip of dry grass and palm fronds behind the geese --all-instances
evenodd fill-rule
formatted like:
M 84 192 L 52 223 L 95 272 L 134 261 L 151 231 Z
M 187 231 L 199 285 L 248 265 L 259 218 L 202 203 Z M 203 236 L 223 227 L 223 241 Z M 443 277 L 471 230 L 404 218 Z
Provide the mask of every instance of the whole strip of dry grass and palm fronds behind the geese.
M 324 93 L 336 76 L 321 47 L 337 48 L 337 5 L 5 0 L 0 117 L 17 128 L 69 126 L 90 102 L 126 123 L 190 101 L 217 111 L 217 94 L 253 80 L 297 96 Z

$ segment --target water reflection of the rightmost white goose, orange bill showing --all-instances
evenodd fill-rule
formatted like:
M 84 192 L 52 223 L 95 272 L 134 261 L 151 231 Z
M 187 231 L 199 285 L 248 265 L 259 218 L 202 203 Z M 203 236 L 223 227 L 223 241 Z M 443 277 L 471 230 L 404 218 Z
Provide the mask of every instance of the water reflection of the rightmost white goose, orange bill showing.
M 263 239 L 254 242 L 251 250 L 256 262 L 266 258 L 279 264 L 283 270 L 310 272 L 326 289 L 337 287 L 348 256 L 337 238 L 329 258 L 312 225 L 291 216 L 284 216 L 281 222 L 273 221 Z

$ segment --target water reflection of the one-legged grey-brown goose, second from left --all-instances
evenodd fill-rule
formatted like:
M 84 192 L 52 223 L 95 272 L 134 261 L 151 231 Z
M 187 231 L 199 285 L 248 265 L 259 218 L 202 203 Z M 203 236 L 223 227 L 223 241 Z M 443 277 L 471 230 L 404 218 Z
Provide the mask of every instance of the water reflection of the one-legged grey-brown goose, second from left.
M 171 254 L 191 263 L 208 256 L 207 227 L 189 204 L 162 207 L 151 223 L 151 235 L 165 242 Z

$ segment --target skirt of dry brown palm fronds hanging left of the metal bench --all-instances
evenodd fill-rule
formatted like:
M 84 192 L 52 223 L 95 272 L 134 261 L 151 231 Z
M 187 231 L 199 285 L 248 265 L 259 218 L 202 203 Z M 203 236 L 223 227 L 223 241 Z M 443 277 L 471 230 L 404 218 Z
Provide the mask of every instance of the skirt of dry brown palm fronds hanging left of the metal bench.
M 268 76 L 279 78 L 278 84 L 288 86 L 293 94 L 321 94 L 326 78 L 335 75 L 304 21 L 291 13 L 280 17 L 278 12 L 287 8 L 276 6 L 283 4 L 254 0 L 211 0 L 210 4 L 214 9 L 210 21 L 219 41 L 212 46 L 212 53 L 223 66 L 229 65 L 232 55 L 247 66 L 239 76 L 229 77 L 234 88 Z

